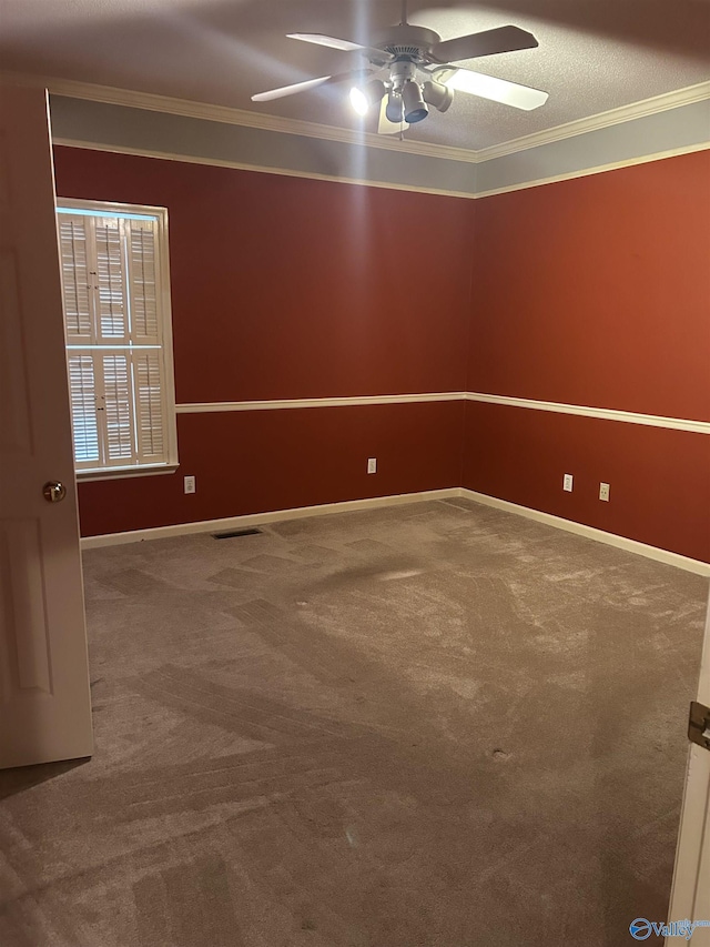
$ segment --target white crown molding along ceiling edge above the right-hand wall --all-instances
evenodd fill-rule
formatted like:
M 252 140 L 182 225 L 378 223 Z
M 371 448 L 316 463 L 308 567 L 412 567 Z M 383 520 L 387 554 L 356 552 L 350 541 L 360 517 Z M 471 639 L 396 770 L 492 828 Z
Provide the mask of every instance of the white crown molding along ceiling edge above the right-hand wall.
M 662 95 L 653 95 L 651 99 L 643 99 L 640 102 L 632 102 L 629 105 L 620 105 L 618 109 L 609 109 L 607 112 L 599 112 L 586 119 L 566 122 L 554 129 L 526 134 L 521 138 L 501 142 L 500 144 L 493 144 L 489 148 L 481 148 L 475 152 L 476 163 L 480 164 L 485 161 L 494 161 L 496 158 L 504 158 L 506 154 L 526 151 L 528 148 L 552 144 L 566 138 L 575 138 L 579 134 L 610 128 L 611 125 L 618 125 L 633 119 L 642 119 L 647 115 L 655 115 L 658 112 L 667 112 L 670 109 L 691 105 L 693 102 L 702 102 L 706 99 L 710 99 L 710 81 L 699 82 L 697 85 L 688 85 L 684 89 L 677 89 L 673 92 L 665 92 Z

